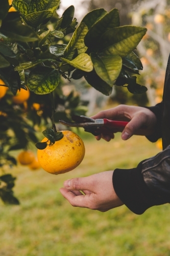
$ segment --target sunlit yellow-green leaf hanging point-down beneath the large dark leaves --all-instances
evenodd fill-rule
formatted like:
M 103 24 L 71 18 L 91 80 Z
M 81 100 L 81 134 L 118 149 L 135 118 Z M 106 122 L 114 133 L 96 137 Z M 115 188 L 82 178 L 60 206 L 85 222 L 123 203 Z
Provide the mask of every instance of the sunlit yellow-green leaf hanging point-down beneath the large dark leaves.
M 90 56 L 98 76 L 107 82 L 109 86 L 113 86 L 113 81 L 118 77 L 122 69 L 122 58 L 118 55 L 99 57 L 95 53 L 91 53 Z

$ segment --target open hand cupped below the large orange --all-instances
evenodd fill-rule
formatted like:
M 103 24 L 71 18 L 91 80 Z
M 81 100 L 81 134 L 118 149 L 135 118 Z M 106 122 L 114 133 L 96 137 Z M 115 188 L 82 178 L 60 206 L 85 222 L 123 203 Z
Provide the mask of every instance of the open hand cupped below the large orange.
M 112 176 L 113 171 L 107 171 L 85 178 L 66 180 L 60 192 L 74 207 L 105 212 L 123 205 L 114 191 Z

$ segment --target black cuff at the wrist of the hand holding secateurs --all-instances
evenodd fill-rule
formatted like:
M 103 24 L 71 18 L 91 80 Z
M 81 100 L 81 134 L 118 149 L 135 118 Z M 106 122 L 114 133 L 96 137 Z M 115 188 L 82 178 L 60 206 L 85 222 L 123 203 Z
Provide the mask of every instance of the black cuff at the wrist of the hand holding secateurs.
M 146 136 L 149 141 L 156 142 L 158 139 L 162 138 L 162 131 L 161 131 L 162 102 L 156 104 L 155 106 L 145 106 L 145 108 L 151 110 L 157 118 L 157 123 L 156 123 L 154 133 L 150 136 Z

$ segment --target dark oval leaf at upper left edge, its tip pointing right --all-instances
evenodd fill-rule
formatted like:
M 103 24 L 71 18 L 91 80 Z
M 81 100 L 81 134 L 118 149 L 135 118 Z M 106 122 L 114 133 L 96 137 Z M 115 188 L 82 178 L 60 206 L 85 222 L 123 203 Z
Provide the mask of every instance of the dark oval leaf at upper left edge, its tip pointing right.
M 19 22 L 3 23 L 0 32 L 16 41 L 32 42 L 38 40 L 37 34 L 34 30 Z

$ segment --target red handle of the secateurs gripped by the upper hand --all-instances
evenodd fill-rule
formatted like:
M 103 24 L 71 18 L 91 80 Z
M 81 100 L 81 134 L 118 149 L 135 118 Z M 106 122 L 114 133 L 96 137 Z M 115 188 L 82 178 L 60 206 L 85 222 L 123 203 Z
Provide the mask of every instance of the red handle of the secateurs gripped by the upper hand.
M 108 132 L 107 127 L 116 128 L 117 132 L 123 132 L 125 126 L 129 123 L 127 121 L 112 121 L 108 119 L 103 119 L 103 120 L 104 120 L 104 127 L 102 127 L 102 132 L 105 134 L 107 134 Z M 135 132 L 135 135 L 149 136 L 152 133 L 153 133 L 153 130 L 142 127 L 142 129 L 139 129 Z

